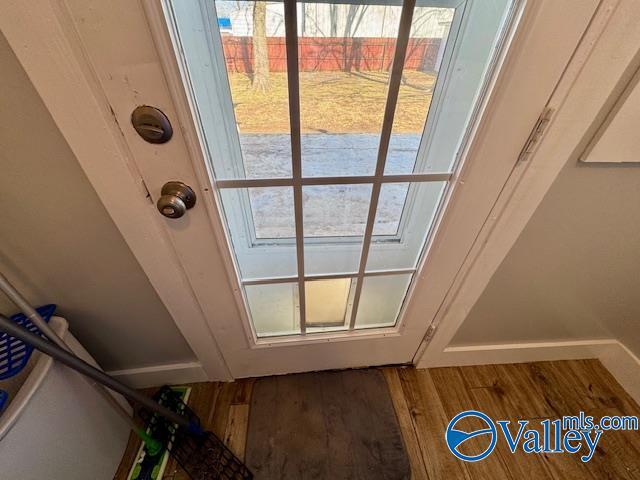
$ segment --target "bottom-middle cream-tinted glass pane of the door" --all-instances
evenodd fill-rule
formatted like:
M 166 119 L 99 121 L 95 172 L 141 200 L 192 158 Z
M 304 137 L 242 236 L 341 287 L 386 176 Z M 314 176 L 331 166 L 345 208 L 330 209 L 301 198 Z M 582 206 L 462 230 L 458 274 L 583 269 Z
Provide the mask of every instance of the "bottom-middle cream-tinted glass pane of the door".
M 351 278 L 306 281 L 304 288 L 307 327 L 345 324 Z

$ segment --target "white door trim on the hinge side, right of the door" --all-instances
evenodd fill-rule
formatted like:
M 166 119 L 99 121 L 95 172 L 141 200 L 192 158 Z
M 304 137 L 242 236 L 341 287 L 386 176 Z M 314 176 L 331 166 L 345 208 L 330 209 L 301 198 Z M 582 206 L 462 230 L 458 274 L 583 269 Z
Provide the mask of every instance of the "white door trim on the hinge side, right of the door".
M 414 359 L 418 367 L 451 364 L 451 353 L 467 348 L 450 343 L 561 169 L 578 161 L 607 106 L 637 69 L 639 17 L 637 2 L 601 2 L 549 101 L 555 113 L 545 135 L 505 185 L 438 311 L 435 334 L 423 341 Z

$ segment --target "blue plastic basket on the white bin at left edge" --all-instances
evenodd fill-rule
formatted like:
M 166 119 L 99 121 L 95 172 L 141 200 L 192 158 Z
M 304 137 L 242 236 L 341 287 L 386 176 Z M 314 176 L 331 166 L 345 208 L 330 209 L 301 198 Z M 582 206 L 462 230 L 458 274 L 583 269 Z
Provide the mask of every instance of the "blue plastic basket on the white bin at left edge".
M 48 322 L 53 312 L 56 311 L 56 306 L 43 305 L 36 308 L 36 310 L 44 318 L 44 321 Z M 40 335 L 40 330 L 23 314 L 14 315 L 11 320 L 27 328 L 32 333 Z M 0 333 L 0 380 L 13 377 L 20 372 L 29 361 L 32 352 L 33 347 L 31 345 L 10 337 L 4 332 Z

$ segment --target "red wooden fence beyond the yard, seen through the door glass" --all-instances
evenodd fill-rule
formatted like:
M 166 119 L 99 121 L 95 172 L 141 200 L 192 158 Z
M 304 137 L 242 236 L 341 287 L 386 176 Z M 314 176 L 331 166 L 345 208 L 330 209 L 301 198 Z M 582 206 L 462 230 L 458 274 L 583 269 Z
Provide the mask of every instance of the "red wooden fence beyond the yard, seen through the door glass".
M 315 38 L 298 39 L 300 71 L 351 71 L 388 70 L 395 49 L 393 38 Z M 222 37 L 227 69 L 230 72 L 253 71 L 252 37 Z M 267 38 L 269 70 L 286 71 L 284 37 Z M 405 69 L 433 71 L 439 38 L 414 38 L 409 40 Z

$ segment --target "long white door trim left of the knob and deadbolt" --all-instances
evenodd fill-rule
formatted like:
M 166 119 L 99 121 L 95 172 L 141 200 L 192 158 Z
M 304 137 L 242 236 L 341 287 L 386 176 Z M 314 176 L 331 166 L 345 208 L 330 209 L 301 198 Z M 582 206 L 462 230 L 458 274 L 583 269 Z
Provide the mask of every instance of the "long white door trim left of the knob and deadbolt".
M 3 2 L 0 29 L 207 378 L 230 380 L 66 5 Z

